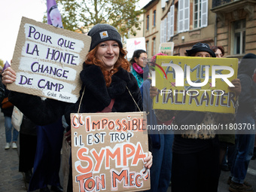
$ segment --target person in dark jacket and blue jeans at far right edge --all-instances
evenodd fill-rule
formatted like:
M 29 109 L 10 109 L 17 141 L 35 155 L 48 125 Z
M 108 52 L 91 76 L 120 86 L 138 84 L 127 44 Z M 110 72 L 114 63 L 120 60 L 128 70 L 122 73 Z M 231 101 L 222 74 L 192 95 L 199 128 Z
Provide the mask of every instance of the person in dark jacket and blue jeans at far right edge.
M 254 127 L 254 99 L 256 97 L 256 84 L 252 80 L 252 75 L 256 69 L 256 55 L 245 54 L 238 68 L 238 78 L 240 79 L 242 91 L 239 95 L 239 106 L 236 112 L 236 124 L 245 123 Z M 230 170 L 229 190 L 253 191 L 251 184 L 245 182 L 248 165 L 251 160 L 254 148 L 254 131 L 244 130 L 242 133 L 236 132 L 236 156 Z

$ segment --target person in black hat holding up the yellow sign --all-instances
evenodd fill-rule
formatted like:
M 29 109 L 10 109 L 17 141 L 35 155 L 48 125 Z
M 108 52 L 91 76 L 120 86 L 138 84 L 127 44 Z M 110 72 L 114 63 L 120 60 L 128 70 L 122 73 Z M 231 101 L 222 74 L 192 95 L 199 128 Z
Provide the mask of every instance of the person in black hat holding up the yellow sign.
M 197 43 L 187 56 L 215 57 L 209 44 Z M 239 95 L 239 79 L 231 81 L 230 90 Z M 157 96 L 157 87 L 151 87 L 151 97 Z M 157 117 L 181 125 L 218 124 L 233 120 L 233 114 L 201 111 L 155 110 Z M 181 130 L 175 133 L 172 145 L 172 192 L 217 192 L 219 178 L 218 136 L 214 130 Z

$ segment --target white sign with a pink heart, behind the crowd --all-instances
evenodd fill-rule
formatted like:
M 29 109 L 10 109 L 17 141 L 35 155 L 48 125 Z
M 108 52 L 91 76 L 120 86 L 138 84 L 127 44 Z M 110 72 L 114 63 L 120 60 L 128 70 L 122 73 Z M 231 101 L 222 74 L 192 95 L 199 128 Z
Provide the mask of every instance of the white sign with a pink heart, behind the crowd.
M 133 57 L 135 50 L 146 50 L 145 38 L 127 38 L 126 39 L 127 58 Z

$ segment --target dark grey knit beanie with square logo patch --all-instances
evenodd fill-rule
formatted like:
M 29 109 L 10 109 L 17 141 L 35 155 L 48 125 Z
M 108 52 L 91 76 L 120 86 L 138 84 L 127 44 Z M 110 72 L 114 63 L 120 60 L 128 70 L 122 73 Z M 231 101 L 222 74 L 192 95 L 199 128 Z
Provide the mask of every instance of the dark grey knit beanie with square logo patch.
M 121 36 L 114 26 L 99 23 L 93 26 L 87 35 L 92 38 L 90 50 L 93 50 L 99 43 L 103 41 L 117 41 L 120 47 L 123 47 Z

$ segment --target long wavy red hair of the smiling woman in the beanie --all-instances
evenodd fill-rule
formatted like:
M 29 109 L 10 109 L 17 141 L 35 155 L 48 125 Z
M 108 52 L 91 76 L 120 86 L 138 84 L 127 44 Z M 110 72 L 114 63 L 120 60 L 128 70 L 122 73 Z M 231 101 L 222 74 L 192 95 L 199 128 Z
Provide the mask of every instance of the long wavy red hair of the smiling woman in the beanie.
M 112 77 L 112 75 L 114 75 L 114 73 L 118 72 L 119 67 L 121 67 L 121 68 L 125 69 L 126 71 L 130 72 L 130 62 L 128 62 L 124 58 L 127 54 L 126 50 L 123 50 L 123 48 L 119 46 L 120 53 L 119 53 L 119 57 L 117 59 L 117 62 L 114 64 L 114 68 L 111 69 L 110 72 L 108 72 L 105 69 L 102 61 L 96 58 L 96 52 L 98 50 L 98 47 L 99 47 L 99 44 L 87 54 L 87 59 L 85 60 L 84 63 L 85 63 L 85 65 L 99 66 L 99 68 L 102 70 L 102 73 L 104 75 L 106 86 L 109 87 L 110 84 L 111 84 L 111 77 Z

